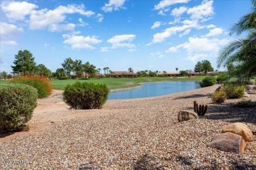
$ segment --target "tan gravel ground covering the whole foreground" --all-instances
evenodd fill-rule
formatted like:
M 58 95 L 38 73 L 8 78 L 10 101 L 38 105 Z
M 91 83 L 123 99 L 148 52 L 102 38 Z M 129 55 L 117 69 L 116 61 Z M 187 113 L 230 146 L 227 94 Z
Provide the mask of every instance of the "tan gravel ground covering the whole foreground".
M 54 91 L 38 100 L 30 131 L 0 135 L 0 169 L 256 169 L 256 109 L 232 107 L 240 99 L 211 103 L 216 88 L 108 100 L 100 110 L 70 110 Z M 207 114 L 178 122 L 194 100 L 209 106 Z M 206 146 L 233 122 L 254 133 L 243 154 Z

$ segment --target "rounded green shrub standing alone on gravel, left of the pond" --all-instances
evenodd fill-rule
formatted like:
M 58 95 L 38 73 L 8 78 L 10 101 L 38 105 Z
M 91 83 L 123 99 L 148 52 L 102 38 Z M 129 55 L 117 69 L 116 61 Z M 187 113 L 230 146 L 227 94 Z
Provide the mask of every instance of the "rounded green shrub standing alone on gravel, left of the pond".
M 106 84 L 75 82 L 65 87 L 63 99 L 72 109 L 101 109 L 108 93 Z

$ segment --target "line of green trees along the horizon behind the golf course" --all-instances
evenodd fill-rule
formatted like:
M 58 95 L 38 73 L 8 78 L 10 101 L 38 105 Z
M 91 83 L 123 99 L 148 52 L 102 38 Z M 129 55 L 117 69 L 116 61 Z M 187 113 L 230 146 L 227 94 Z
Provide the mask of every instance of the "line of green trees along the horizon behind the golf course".
M 35 58 L 33 57 L 33 54 L 28 50 L 20 50 L 18 51 L 18 54 L 15 55 L 15 59 L 13 61 L 14 65 L 12 65 L 12 74 L 13 75 L 43 75 L 47 77 L 55 77 L 55 78 L 72 78 L 72 73 L 75 73 L 76 78 L 90 78 L 94 77 L 96 74 L 100 74 L 101 69 L 96 69 L 95 65 L 89 63 L 88 61 L 83 63 L 81 59 L 72 59 L 72 58 L 66 58 L 64 59 L 63 63 L 61 63 L 62 68 L 56 69 L 54 73 L 51 72 L 50 69 L 48 69 L 43 64 L 36 64 Z M 176 67 L 176 71 L 179 69 Z M 103 68 L 104 75 L 105 76 L 111 76 L 114 74 L 113 71 L 110 70 L 109 67 Z M 133 69 L 129 67 L 129 72 L 133 72 Z M 211 67 L 211 63 L 207 60 L 198 61 L 194 68 L 195 72 L 198 73 L 206 73 L 208 71 L 213 71 L 213 67 Z M 191 73 L 192 70 L 186 70 L 186 71 L 179 71 L 181 76 L 186 76 Z M 110 73 L 110 74 L 108 74 Z M 158 75 L 158 73 L 161 73 L 161 71 L 138 71 L 137 75 L 140 77 L 143 76 L 167 76 L 167 71 L 163 71 L 161 75 Z M 11 75 L 9 74 L 9 77 Z M 3 73 L 0 73 L 0 78 L 7 78 L 7 73 L 4 71 Z M 74 77 L 74 76 L 73 76 Z

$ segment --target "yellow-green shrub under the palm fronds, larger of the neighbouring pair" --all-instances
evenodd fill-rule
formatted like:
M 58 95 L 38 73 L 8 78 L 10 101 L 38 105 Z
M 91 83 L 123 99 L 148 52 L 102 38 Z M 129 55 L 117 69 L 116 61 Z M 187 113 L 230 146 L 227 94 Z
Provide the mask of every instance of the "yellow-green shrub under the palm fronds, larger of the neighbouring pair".
M 228 99 L 240 99 L 244 96 L 244 86 L 239 86 L 237 84 L 226 84 L 224 86 L 224 91 Z

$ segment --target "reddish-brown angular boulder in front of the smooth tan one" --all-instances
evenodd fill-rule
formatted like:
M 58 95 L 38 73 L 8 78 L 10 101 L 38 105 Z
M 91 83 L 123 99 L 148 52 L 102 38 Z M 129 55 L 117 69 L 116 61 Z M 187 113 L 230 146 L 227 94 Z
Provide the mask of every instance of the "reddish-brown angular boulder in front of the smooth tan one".
M 217 148 L 224 152 L 241 154 L 246 146 L 244 139 L 234 133 L 221 133 L 213 137 L 213 141 L 207 144 L 210 148 Z

